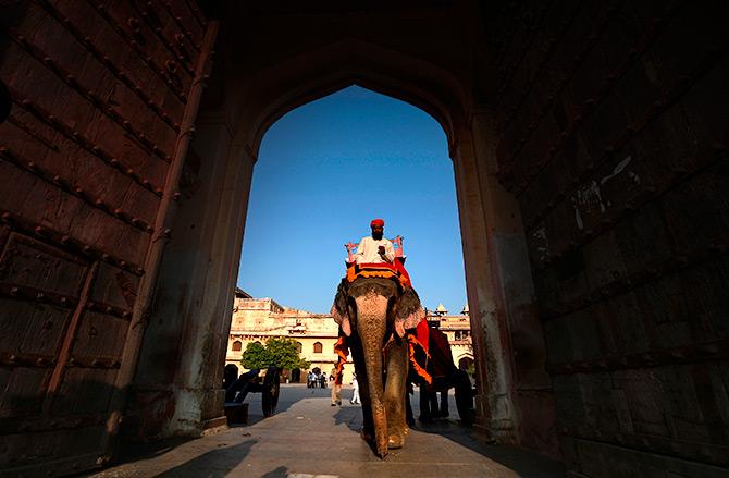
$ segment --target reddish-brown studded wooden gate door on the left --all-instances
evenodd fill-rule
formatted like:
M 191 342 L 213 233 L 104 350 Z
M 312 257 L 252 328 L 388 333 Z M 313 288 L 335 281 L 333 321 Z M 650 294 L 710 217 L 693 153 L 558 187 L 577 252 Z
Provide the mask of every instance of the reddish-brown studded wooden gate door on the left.
M 110 456 L 213 23 L 193 0 L 0 7 L 12 98 L 0 124 L 2 476 Z

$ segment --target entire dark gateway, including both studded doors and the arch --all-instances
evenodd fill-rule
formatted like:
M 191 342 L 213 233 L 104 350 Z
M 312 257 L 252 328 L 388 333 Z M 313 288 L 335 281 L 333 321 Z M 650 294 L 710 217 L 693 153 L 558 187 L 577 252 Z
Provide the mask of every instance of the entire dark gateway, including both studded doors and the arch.
M 447 135 L 484 439 L 583 476 L 729 463 L 721 15 L 210 4 L 0 15 L 0 469 L 73 473 L 120 438 L 223 424 L 259 143 L 351 84 Z

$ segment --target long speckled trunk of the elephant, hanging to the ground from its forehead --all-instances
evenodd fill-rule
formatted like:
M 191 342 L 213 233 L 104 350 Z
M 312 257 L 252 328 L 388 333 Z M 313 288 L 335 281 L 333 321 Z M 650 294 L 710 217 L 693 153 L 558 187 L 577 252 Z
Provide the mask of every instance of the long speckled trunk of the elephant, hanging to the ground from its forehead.
M 378 454 L 387 454 L 387 416 L 383 401 L 382 347 L 387 324 L 387 297 L 372 291 L 356 298 L 357 334 L 362 344 Z

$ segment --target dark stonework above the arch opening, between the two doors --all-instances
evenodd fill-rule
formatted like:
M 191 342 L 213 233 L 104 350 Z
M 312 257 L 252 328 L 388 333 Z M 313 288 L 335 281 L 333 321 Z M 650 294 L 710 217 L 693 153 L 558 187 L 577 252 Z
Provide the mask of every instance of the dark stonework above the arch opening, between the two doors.
M 285 112 L 358 84 L 423 109 L 453 145 L 472 102 L 473 45 L 468 38 L 475 30 L 473 8 L 471 2 L 383 3 L 366 10 L 333 3 L 283 11 L 234 7 L 226 17 L 251 15 L 250 28 L 226 32 L 223 24 L 230 41 L 218 52 L 231 65 L 226 82 L 236 85 L 240 98 L 240 108 L 230 113 L 239 128 L 236 142 L 255 155 L 268 127 Z M 346 24 L 332 22 L 322 14 L 330 9 L 351 16 Z M 380 10 L 387 12 L 387 25 L 373 28 L 370 15 Z M 456 27 L 446 19 L 460 23 Z M 434 45 L 442 54 L 432 54 Z

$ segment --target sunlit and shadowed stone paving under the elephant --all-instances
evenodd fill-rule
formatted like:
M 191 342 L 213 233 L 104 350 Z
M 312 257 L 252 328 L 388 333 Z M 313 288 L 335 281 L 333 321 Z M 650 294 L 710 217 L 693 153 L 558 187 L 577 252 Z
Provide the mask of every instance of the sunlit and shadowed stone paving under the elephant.
M 351 395 L 345 389 L 344 397 Z M 250 403 L 249 422 L 208 437 L 168 441 L 138 450 L 94 477 L 539 477 L 564 476 L 560 464 L 531 453 L 483 445 L 450 418 L 410 431 L 406 446 L 376 458 L 359 438 L 361 408 L 344 400 L 330 406 L 330 390 L 282 385 L 279 410 L 263 418 L 261 395 Z M 418 415 L 417 393 L 412 406 Z

